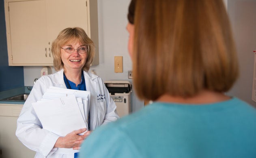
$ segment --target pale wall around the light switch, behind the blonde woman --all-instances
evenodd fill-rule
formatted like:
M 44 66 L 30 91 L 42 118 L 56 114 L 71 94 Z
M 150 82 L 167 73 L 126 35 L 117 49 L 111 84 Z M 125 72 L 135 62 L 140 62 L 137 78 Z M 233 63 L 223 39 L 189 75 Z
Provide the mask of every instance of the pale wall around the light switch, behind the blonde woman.
M 99 22 L 99 65 L 92 66 L 104 81 L 128 80 L 128 70 L 132 70 L 127 50 L 128 33 L 127 11 L 130 0 L 98 0 Z M 123 56 L 123 73 L 114 72 L 114 56 Z M 35 78 L 40 77 L 42 67 L 24 66 L 24 85 L 32 86 Z M 55 72 L 55 70 L 53 70 Z M 132 91 L 131 110 L 135 112 L 144 106 Z

